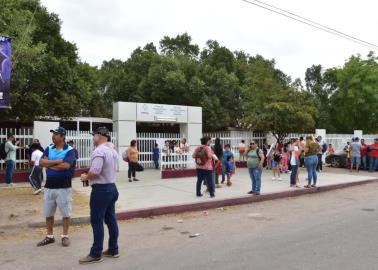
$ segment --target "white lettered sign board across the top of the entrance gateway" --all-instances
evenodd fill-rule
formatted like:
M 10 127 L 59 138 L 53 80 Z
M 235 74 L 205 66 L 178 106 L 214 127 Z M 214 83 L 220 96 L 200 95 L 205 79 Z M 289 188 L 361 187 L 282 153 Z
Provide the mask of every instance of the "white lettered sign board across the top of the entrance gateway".
M 137 103 L 137 121 L 187 123 L 188 107 L 178 105 Z

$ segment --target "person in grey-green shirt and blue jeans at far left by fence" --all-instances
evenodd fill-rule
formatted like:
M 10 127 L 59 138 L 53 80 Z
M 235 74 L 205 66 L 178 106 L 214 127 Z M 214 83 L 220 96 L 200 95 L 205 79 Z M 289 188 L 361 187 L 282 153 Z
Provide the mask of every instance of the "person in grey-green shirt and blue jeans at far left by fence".
M 15 143 L 13 144 L 13 142 Z M 9 133 L 7 136 L 5 147 L 4 147 L 5 153 L 7 154 L 5 158 L 5 165 L 6 165 L 5 183 L 7 184 L 8 187 L 14 186 L 13 173 L 16 168 L 16 152 L 17 152 L 17 149 L 21 148 L 19 145 L 20 145 L 20 141 L 16 140 L 16 137 L 12 133 Z

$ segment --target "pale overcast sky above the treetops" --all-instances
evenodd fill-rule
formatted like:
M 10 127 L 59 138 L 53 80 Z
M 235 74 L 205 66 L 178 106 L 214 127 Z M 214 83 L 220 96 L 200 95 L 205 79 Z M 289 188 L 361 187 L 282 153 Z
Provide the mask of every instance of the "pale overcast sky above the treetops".
M 112 58 L 126 60 L 138 46 L 154 42 L 158 47 L 162 37 L 185 32 L 200 48 L 211 39 L 232 51 L 274 58 L 278 68 L 302 80 L 306 68 L 313 64 L 340 67 L 351 55 L 366 56 L 372 50 L 242 0 L 41 2 L 59 15 L 63 36 L 76 43 L 81 60 L 96 66 Z M 378 44 L 376 0 L 265 2 Z

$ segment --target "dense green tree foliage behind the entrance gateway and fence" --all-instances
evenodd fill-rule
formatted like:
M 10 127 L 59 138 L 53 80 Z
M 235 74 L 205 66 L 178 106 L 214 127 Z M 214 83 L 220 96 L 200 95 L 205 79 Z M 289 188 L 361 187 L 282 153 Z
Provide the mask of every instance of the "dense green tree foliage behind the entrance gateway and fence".
M 291 80 L 275 60 L 231 51 L 216 40 L 203 49 L 189 34 L 164 36 L 125 61 L 100 68 L 80 61 L 61 34 L 58 15 L 39 0 L 0 0 L 1 34 L 13 38 L 12 109 L 0 120 L 37 116 L 111 117 L 116 101 L 201 106 L 207 130 L 228 127 L 309 132 L 378 132 L 377 58 L 351 57 L 342 68 L 313 65 Z M 33 16 L 34 14 L 34 16 Z

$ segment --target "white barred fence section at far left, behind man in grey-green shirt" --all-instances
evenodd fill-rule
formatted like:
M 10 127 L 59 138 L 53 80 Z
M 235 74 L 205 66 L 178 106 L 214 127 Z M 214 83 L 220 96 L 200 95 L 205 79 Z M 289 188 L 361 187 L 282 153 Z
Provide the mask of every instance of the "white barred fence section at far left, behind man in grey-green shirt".
M 27 147 L 31 145 L 33 141 L 33 129 L 32 128 L 0 128 L 0 142 L 7 140 L 8 134 L 12 133 L 15 135 L 16 140 L 20 140 L 21 147 Z M 27 170 L 29 165 L 28 161 L 28 151 L 27 148 L 18 149 L 16 154 L 16 169 L 17 170 Z M 5 169 L 4 160 L 0 160 L 0 169 Z

